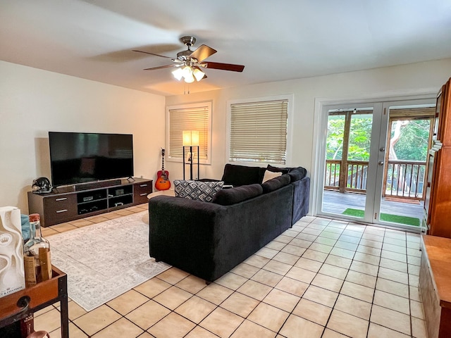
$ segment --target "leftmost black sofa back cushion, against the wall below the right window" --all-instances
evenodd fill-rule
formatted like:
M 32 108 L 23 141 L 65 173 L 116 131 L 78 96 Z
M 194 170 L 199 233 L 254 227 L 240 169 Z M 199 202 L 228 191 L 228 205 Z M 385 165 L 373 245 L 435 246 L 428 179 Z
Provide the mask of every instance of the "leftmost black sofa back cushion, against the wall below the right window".
M 224 166 L 222 181 L 233 187 L 263 182 L 266 168 L 248 167 L 246 165 L 235 165 L 227 163 Z

